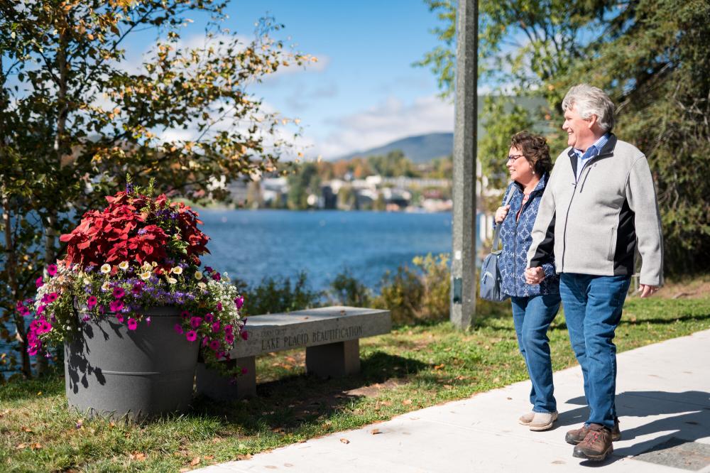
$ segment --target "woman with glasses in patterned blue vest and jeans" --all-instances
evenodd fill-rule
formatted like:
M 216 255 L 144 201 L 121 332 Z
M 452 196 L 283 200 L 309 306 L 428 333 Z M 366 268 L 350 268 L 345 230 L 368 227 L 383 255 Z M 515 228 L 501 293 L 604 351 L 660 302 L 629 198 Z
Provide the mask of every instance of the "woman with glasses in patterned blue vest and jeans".
M 532 381 L 532 412 L 522 415 L 520 423 L 528 425 L 530 430 L 547 430 L 557 419 L 547 338 L 547 329 L 559 309 L 559 277 L 554 261 L 542 265 L 545 278 L 540 284 L 525 283 L 532 224 L 552 169 L 545 138 L 527 131 L 515 134 L 510 140 L 507 167 L 513 183 L 508 186 L 503 202 L 508 200 L 510 192 L 513 194 L 508 205 L 498 207 L 495 220 L 501 224 L 503 242 L 503 253 L 498 259 L 503 279 L 501 290 L 512 300 L 518 346 Z

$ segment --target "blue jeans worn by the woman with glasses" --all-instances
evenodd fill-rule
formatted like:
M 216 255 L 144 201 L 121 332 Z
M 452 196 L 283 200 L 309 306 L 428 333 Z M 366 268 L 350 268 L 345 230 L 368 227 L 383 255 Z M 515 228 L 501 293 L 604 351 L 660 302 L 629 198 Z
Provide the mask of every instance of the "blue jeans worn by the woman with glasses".
M 510 298 L 513 301 L 513 324 L 518 335 L 518 347 L 523 354 L 532 381 L 530 403 L 532 411 L 557 411 L 552 386 L 552 361 L 547 329 L 559 310 L 559 294 Z

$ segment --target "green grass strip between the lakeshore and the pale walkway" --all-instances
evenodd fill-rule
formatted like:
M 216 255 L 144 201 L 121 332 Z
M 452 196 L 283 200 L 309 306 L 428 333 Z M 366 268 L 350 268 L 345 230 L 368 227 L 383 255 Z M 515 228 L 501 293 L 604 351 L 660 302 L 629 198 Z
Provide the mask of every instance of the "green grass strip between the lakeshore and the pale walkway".
M 624 351 L 709 328 L 710 297 L 630 298 L 615 341 Z M 555 370 L 576 363 L 562 314 L 550 344 Z M 302 352 L 261 357 L 258 398 L 198 398 L 185 415 L 141 425 L 68 411 L 59 374 L 0 386 L 0 469 L 203 467 L 527 379 L 509 315 L 481 317 L 471 332 L 440 322 L 361 340 L 361 374 L 346 379 L 306 376 L 303 361 Z

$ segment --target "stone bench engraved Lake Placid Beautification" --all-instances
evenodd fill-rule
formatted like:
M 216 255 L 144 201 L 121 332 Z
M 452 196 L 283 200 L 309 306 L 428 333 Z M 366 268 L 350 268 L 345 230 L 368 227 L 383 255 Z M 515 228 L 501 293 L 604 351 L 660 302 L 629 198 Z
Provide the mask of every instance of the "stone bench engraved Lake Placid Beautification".
M 197 393 L 214 399 L 256 396 L 256 357 L 305 347 L 306 372 L 322 378 L 360 371 L 359 339 L 389 333 L 389 310 L 345 306 L 255 315 L 246 321 L 249 338 L 239 339 L 224 363 L 246 368 L 235 383 L 197 365 Z

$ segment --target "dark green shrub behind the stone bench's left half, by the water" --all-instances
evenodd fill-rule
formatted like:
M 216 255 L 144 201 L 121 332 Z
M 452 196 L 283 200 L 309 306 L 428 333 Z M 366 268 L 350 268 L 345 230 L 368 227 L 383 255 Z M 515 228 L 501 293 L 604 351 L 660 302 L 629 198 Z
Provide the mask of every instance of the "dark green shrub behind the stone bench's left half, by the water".
M 247 317 L 317 307 L 320 305 L 322 293 L 311 290 L 307 279 L 305 272 L 298 273 L 293 285 L 290 278 L 268 277 L 263 278 L 261 283 L 253 288 L 237 281 L 235 284 L 239 293 L 244 296 L 242 315 Z

